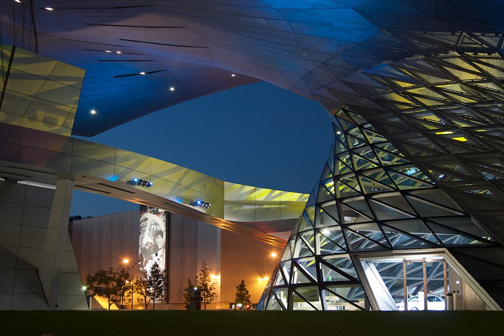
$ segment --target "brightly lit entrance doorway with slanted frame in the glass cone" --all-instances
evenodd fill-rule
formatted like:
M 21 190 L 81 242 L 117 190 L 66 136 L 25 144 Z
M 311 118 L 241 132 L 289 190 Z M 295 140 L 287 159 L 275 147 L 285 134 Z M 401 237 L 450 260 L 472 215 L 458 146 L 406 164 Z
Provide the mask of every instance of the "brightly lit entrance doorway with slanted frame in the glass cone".
M 494 301 L 447 255 L 412 251 L 359 258 L 372 309 L 492 309 Z

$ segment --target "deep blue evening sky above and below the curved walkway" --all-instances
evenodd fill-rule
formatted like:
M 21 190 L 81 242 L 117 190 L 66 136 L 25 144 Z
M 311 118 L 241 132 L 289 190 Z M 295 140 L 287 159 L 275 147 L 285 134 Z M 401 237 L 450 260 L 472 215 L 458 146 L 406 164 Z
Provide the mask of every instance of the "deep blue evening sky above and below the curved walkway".
M 319 102 L 265 82 L 216 92 L 82 137 L 224 181 L 303 193 L 322 173 L 333 138 Z M 71 215 L 138 208 L 76 190 Z

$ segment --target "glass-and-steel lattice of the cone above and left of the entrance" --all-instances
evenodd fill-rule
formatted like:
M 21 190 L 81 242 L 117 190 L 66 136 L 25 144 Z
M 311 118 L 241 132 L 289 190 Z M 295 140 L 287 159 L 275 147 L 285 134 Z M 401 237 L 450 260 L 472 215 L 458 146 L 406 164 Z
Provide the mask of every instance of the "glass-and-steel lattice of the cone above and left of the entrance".
M 499 246 L 366 120 L 349 110 L 332 120 L 334 155 L 271 277 L 265 309 L 327 309 L 335 297 L 355 305 L 365 296 L 354 253 Z

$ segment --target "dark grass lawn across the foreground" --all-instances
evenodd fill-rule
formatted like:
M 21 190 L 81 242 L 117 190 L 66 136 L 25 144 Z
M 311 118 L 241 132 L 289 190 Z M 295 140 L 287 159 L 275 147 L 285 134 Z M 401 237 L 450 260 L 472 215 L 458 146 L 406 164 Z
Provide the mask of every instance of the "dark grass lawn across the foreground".
M 504 312 L 2 311 L 0 335 L 504 335 Z

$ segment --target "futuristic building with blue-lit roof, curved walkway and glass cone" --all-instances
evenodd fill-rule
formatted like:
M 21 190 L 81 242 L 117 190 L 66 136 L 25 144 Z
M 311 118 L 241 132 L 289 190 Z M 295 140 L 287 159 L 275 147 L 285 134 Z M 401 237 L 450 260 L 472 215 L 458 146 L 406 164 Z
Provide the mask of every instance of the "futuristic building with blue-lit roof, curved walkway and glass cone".
M 37 281 L 41 305 L 71 297 L 59 283 L 76 277 L 75 258 L 64 258 L 73 255 L 73 188 L 277 246 L 285 241 L 271 233 L 293 228 L 260 308 L 396 310 L 408 297 L 422 307 L 435 297 L 449 308 L 504 307 L 501 2 L 0 5 L 2 226 L 19 242 L 4 253 L 27 261 L 27 249 L 43 252 L 29 269 L 15 261 L 5 271 L 9 307 Z M 334 146 L 309 198 L 69 137 L 261 80 L 319 100 L 330 115 Z M 36 203 L 33 186 L 17 181 L 56 185 L 54 200 Z M 194 208 L 197 199 L 212 207 Z M 48 229 L 33 229 L 32 206 L 45 209 Z M 34 246 L 23 245 L 25 232 Z

